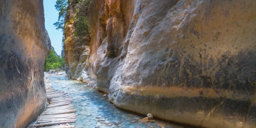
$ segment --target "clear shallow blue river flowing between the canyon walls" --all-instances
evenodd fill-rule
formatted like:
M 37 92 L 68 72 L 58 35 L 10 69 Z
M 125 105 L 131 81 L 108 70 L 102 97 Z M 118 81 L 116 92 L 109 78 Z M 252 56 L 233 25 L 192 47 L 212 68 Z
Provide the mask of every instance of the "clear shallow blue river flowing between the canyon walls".
M 54 75 L 47 74 L 52 88 L 67 92 L 74 100 L 74 108 L 77 110 L 77 122 L 75 127 L 185 127 L 175 125 L 170 122 L 155 120 L 155 122 L 141 122 L 145 116 L 136 115 L 129 111 L 116 108 L 108 97 L 103 97 L 104 93 L 88 86 L 80 81 L 72 80 L 65 74 Z

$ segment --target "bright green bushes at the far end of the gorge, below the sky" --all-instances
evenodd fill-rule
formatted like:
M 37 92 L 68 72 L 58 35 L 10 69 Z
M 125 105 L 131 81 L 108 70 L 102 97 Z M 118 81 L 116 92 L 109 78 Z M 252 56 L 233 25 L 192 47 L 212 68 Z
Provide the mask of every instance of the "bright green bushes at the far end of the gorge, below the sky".
M 54 49 L 51 50 L 50 54 L 47 56 L 44 63 L 44 70 L 48 71 L 56 68 L 63 68 L 65 65 L 65 60 L 63 57 L 58 56 Z

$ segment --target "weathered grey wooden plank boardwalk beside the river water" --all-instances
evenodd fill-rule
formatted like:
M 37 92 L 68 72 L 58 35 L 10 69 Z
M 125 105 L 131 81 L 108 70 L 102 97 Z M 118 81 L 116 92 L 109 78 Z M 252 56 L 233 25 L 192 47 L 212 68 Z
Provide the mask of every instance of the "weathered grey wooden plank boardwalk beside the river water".
M 67 93 L 47 87 L 46 95 L 49 105 L 46 107 L 45 111 L 38 116 L 35 124 L 29 125 L 29 127 L 74 127 L 74 125 L 69 125 L 69 123 L 76 122 L 76 110 L 72 105 L 73 100 L 68 97 Z

